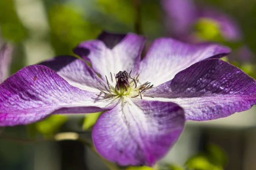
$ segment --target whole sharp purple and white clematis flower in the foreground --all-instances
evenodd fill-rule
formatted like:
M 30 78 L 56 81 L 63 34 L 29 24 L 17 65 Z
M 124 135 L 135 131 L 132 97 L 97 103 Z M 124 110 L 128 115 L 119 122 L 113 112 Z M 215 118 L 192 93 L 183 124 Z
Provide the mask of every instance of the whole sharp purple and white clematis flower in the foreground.
M 230 48 L 159 38 L 141 60 L 145 40 L 103 32 L 74 49 L 82 59 L 59 56 L 21 69 L 0 85 L 0 125 L 105 111 L 92 131 L 96 150 L 120 165 L 152 166 L 185 120 L 218 119 L 256 103 L 255 80 L 218 59 Z

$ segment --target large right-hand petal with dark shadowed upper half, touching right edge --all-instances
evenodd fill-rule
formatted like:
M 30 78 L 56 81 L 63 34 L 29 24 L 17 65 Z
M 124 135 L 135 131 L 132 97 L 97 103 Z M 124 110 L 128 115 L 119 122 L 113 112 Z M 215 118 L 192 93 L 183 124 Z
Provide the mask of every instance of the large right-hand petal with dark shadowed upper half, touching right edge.
M 145 94 L 154 96 L 154 100 L 177 103 L 184 108 L 186 119 L 210 120 L 246 111 L 256 104 L 256 81 L 228 62 L 206 59 Z

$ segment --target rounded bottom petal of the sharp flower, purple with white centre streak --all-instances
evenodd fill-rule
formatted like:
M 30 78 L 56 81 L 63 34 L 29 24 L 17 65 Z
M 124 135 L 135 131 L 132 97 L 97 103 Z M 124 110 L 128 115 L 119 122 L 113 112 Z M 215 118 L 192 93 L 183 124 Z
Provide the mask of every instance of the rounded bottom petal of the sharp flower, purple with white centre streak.
M 152 166 L 177 141 L 183 126 L 183 109 L 175 103 L 134 99 L 103 113 L 92 136 L 106 159 Z

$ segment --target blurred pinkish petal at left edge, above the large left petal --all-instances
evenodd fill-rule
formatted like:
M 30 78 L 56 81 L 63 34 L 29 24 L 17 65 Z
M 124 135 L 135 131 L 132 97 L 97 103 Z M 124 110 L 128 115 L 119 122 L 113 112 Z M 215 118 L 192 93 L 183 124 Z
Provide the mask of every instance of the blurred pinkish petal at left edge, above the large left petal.
M 7 44 L 0 46 L 0 83 L 9 76 L 11 60 L 12 47 Z

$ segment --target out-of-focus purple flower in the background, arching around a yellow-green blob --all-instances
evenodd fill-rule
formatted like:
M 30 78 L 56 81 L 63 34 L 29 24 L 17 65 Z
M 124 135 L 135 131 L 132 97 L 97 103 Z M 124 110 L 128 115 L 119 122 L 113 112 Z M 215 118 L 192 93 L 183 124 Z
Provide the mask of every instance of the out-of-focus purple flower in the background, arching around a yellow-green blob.
M 195 24 L 201 19 L 208 19 L 218 24 L 224 39 L 241 40 L 237 23 L 212 7 L 196 6 L 193 0 L 162 0 L 162 5 L 167 14 L 166 23 L 170 24 L 168 31 L 177 39 L 187 40 L 187 37 L 193 34 Z

